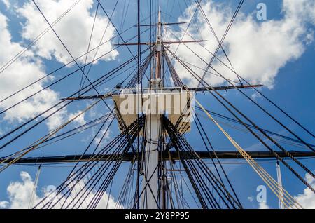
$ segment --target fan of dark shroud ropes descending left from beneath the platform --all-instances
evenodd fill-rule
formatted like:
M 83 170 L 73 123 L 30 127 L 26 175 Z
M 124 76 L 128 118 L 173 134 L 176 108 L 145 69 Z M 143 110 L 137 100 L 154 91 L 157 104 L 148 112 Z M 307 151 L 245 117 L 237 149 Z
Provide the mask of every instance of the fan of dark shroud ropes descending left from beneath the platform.
M 85 165 L 80 168 L 73 168 L 71 174 L 57 188 L 56 192 L 43 198 L 43 201 L 38 203 L 35 208 L 81 208 L 91 192 L 94 195 L 85 208 L 96 208 L 122 163 L 121 158 L 130 150 L 129 137 L 131 136 L 131 142 L 133 143 L 144 125 L 144 121 L 144 116 L 141 116 L 139 120 L 134 121 L 132 125 L 128 126 L 103 149 L 97 151 Z M 109 153 L 108 161 L 98 165 L 97 158 L 102 158 L 102 156 Z M 118 161 L 113 161 L 116 156 L 120 158 L 118 158 Z M 83 187 L 77 189 L 78 184 L 82 181 L 84 182 Z M 99 184 L 100 182 L 101 184 Z M 69 198 L 71 199 L 67 202 Z

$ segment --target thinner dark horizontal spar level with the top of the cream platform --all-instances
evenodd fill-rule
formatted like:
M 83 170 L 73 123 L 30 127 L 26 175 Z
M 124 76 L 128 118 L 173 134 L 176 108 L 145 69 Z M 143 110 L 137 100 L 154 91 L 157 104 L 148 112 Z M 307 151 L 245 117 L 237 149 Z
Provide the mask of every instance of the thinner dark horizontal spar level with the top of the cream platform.
M 260 88 L 262 85 L 240 85 L 240 86 L 218 86 L 213 89 L 209 88 L 188 88 L 189 90 L 194 90 L 195 92 L 202 92 L 207 90 L 232 90 L 232 89 L 243 89 L 243 88 Z M 165 88 L 167 90 L 178 90 L 178 88 Z M 150 90 L 150 88 L 144 90 Z M 105 98 L 111 98 L 113 94 L 106 95 Z M 61 100 L 92 100 L 97 98 L 103 98 L 104 95 L 90 95 L 90 96 L 80 96 L 80 97 L 67 97 Z

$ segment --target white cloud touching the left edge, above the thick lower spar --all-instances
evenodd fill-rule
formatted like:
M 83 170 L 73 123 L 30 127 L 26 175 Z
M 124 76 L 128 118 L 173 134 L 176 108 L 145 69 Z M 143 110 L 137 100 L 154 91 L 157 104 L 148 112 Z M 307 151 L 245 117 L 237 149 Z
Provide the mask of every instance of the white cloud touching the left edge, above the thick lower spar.
M 6 16 L 0 13 L 0 66 L 6 64 L 13 55 L 16 55 L 23 49 L 20 43 L 12 41 L 12 36 L 8 31 L 7 20 Z M 17 90 L 29 85 L 29 83 L 45 76 L 45 66 L 43 65 L 41 59 L 36 57 L 34 53 L 29 50 L 27 53 L 22 55 L 22 57 L 16 60 L 14 64 L 5 69 L 0 76 L 0 99 L 2 100 L 12 93 L 15 93 Z M 53 77 L 51 76 L 48 79 L 43 79 L 43 81 L 38 81 L 29 88 L 22 90 L 22 92 L 17 95 L 1 102 L 0 110 L 2 111 L 17 102 L 24 100 L 29 95 L 42 90 L 48 81 L 52 81 L 52 79 Z M 10 123 L 15 121 L 22 122 L 40 114 L 46 109 L 52 107 L 54 104 L 57 104 L 57 102 L 59 102 L 59 93 L 47 88 L 42 90 L 41 93 L 29 98 L 29 100 L 26 100 L 12 109 L 9 109 L 4 113 L 3 120 L 9 121 Z M 57 107 L 55 110 L 56 109 Z M 55 110 L 51 112 L 54 112 Z M 48 119 L 47 125 L 49 130 L 57 128 L 64 123 L 64 121 L 71 119 L 76 114 L 78 114 L 78 112 L 68 114 L 66 109 L 62 109 Z M 48 114 L 45 114 L 45 116 L 48 116 Z M 84 115 L 79 116 L 74 122 L 85 123 Z M 2 134 L 3 132 L 5 132 L 4 129 L 0 129 L 0 133 Z

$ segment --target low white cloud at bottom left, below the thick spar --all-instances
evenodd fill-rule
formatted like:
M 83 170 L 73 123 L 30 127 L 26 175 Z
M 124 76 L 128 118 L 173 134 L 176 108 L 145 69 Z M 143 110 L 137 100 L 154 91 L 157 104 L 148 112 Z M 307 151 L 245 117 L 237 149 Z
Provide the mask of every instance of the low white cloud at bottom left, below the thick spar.
M 31 193 L 34 189 L 34 182 L 31 179 L 31 176 L 29 173 L 22 171 L 20 173 L 20 177 L 22 179 L 22 182 L 11 182 L 7 188 L 8 192 L 8 201 L 0 201 L 0 208 L 14 208 L 14 209 L 27 209 L 29 207 L 29 201 L 31 198 Z M 76 185 L 76 188 L 73 189 L 74 191 L 78 191 L 81 188 L 84 188 L 83 182 L 79 182 Z M 48 195 L 48 188 L 43 188 L 45 196 Z M 71 196 L 74 194 L 71 194 Z M 69 196 L 69 199 L 71 199 L 71 196 Z M 36 205 L 39 201 L 41 201 L 43 197 L 38 196 L 37 193 L 34 194 L 34 205 Z M 62 198 L 63 199 L 63 198 Z M 68 201 L 70 201 L 68 199 Z M 61 200 L 62 201 L 62 200 Z M 62 203 L 62 202 L 61 202 Z M 108 203 L 108 206 L 107 206 Z M 86 204 L 83 204 L 81 208 L 85 208 Z M 123 208 L 123 206 L 119 205 L 119 203 L 116 203 L 113 196 L 109 197 L 109 194 L 104 193 L 104 196 L 102 196 L 102 199 L 99 201 L 99 204 L 97 205 L 97 208 L 104 209 L 104 208 Z M 58 207 L 56 207 L 58 208 Z

